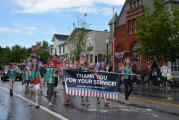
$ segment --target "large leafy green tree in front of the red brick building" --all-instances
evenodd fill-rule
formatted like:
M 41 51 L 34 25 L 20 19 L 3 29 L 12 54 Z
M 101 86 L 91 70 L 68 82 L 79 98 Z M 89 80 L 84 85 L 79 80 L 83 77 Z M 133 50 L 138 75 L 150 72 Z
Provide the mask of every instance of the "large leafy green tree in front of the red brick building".
M 179 10 L 167 10 L 162 0 L 154 0 L 154 10 L 145 9 L 138 19 L 140 52 L 146 56 L 172 60 L 179 52 Z

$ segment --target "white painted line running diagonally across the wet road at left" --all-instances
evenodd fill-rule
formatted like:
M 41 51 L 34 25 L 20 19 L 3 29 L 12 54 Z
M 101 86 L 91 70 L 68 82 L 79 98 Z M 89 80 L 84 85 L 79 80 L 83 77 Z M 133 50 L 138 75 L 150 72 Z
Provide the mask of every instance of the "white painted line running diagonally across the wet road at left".
M 0 86 L 0 88 L 3 89 L 3 90 L 5 90 L 6 92 L 9 92 L 9 90 L 8 90 L 7 88 L 3 88 L 2 86 Z M 19 98 L 21 98 L 21 99 L 23 99 L 23 100 L 29 102 L 29 99 L 27 99 L 27 98 L 21 96 L 20 94 L 17 94 L 17 93 L 14 92 L 14 95 L 16 95 L 17 97 L 19 97 Z M 35 105 L 34 102 L 32 102 L 32 104 Z M 42 110 L 48 112 L 49 114 L 51 114 L 51 115 L 53 115 L 53 116 L 55 116 L 55 117 L 57 117 L 57 118 L 60 118 L 61 120 L 69 120 L 68 118 L 63 117 L 62 115 L 60 115 L 60 114 L 58 114 L 58 113 L 56 113 L 56 112 L 54 112 L 54 111 L 52 111 L 52 110 L 49 110 L 48 108 L 46 108 L 46 107 L 44 107 L 44 106 L 41 106 L 41 105 L 39 105 L 39 106 L 40 106 L 39 109 L 42 109 Z

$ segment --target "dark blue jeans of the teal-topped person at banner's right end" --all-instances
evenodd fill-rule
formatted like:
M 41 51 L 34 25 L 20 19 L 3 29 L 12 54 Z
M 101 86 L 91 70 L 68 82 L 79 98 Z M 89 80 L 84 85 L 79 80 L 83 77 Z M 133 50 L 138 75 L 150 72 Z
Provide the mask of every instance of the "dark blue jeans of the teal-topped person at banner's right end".
M 132 80 L 124 79 L 124 86 L 125 86 L 125 100 L 129 100 L 129 96 L 132 93 Z

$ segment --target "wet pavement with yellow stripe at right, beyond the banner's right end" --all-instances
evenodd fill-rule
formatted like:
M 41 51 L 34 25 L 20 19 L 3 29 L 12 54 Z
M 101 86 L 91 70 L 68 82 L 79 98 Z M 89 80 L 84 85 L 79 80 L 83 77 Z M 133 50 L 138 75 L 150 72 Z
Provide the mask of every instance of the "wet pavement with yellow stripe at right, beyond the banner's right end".
M 124 92 L 119 97 L 119 103 L 124 103 Z M 160 112 L 179 116 L 179 88 L 171 92 L 160 87 L 141 87 L 135 85 L 130 97 L 130 105 L 154 109 Z

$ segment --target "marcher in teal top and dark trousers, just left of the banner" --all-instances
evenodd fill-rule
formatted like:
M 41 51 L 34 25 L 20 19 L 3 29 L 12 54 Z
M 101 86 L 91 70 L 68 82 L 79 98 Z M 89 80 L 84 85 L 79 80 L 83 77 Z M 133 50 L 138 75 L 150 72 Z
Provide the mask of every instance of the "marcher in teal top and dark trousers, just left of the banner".
M 46 68 L 45 81 L 47 82 L 47 95 L 49 106 L 52 105 L 52 96 L 54 95 L 56 69 L 53 61 L 50 61 L 49 66 Z

